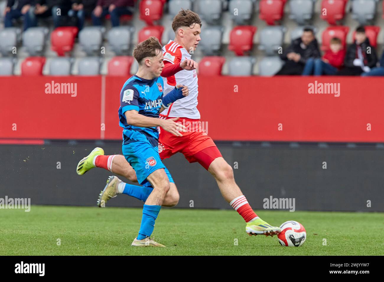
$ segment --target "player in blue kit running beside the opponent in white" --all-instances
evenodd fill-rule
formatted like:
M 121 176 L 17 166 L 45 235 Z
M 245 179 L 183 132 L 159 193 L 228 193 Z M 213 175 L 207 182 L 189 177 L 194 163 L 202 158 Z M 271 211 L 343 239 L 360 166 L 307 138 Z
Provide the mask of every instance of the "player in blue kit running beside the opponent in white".
M 159 131 L 157 127 L 182 136 L 185 127 L 174 119 L 159 119 L 159 113 L 171 103 L 188 95 L 188 87 L 177 85 L 163 97 L 163 79 L 160 77 L 164 68 L 162 46 L 155 37 L 139 43 L 134 48 L 133 56 L 139 63 L 136 75 L 129 78 L 120 93 L 119 118 L 123 128 L 122 152 L 127 162 L 134 168 L 138 182 L 148 189 L 143 189 L 147 197 L 143 206 L 141 226 L 132 246 L 164 245 L 155 242 L 150 236 L 161 205 L 169 190 L 172 176 L 161 161 L 158 151 Z M 125 183 L 106 186 L 102 193 L 123 193 Z M 111 191 L 108 191 L 110 189 Z M 119 191 L 115 191 L 115 190 Z M 102 199 L 102 197 L 100 197 Z

